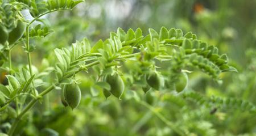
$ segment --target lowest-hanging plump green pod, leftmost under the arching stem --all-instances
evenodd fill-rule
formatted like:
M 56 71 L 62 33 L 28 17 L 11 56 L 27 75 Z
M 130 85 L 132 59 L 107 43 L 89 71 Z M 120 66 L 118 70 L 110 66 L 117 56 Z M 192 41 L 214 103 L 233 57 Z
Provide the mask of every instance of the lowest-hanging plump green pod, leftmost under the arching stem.
M 81 90 L 77 84 L 67 84 L 64 90 L 64 100 L 72 109 L 76 108 L 81 100 Z

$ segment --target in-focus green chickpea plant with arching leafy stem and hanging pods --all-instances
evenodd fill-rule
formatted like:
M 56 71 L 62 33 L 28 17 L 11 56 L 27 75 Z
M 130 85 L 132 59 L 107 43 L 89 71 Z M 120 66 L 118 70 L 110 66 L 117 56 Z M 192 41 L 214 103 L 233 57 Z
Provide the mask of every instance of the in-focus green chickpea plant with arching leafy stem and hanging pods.
M 31 52 L 36 52 L 36 49 L 35 46 L 30 45 L 30 39 L 43 38 L 52 32 L 40 17 L 54 11 L 71 10 L 82 1 L 3 0 L 0 2 L 0 62 L 1 68 L 9 73 L 6 75 L 8 84 L 0 84 L 0 114 L 10 112 L 13 114 L 8 135 L 15 135 L 19 121 L 26 120 L 23 116 L 31 111 L 36 102 L 42 101 L 42 97 L 53 90 L 62 90 L 59 97 L 65 107 L 73 109 L 79 106 L 82 97 L 75 76 L 80 71 L 88 71 L 91 67 L 97 71 L 98 76 L 93 80 L 102 88 L 106 98 L 113 95 L 121 99 L 125 94 L 125 88 L 133 86 L 133 82 L 123 77 L 125 72 L 121 69 L 122 65 L 133 65 L 139 67 L 139 70 L 130 70 L 127 73 L 135 73 L 136 77 L 133 76 L 133 80 L 142 81 L 141 87 L 149 103 L 152 103 L 151 98 L 154 95 L 148 91 L 167 90 L 185 98 L 201 101 L 202 104 L 241 103 L 246 105 L 248 110 L 255 111 L 253 105 L 246 101 L 209 100 L 196 92 L 184 91 L 188 84 L 187 71 L 190 67 L 200 69 L 214 80 L 220 80 L 218 79 L 220 73 L 236 71 L 236 69 L 228 65 L 226 54 L 218 54 L 218 48 L 198 40 L 191 32 L 184 34 L 181 29 L 175 28 L 162 27 L 159 33 L 154 29 L 148 29 L 147 35 L 143 34 L 140 28 L 135 31 L 129 29 L 127 32 L 118 28 L 117 32 L 110 33 L 109 39 L 99 40 L 94 45 L 90 45 L 89 40 L 84 39 L 72 44 L 71 48 L 55 49 L 58 62 L 53 69 L 48 67 L 44 75 L 54 73 L 56 81 L 49 83 L 50 85 L 43 91 L 38 91 L 42 83 L 36 81 L 42 79 L 42 73 L 36 74 L 32 70 Z M 24 9 L 28 9 L 34 19 L 26 20 L 20 12 Z M 32 27 L 35 22 L 41 24 Z M 27 64 L 23 64 L 21 68 L 13 66 L 11 61 L 11 50 L 19 45 L 24 45 L 24 53 L 27 54 Z M 156 62 L 168 63 L 169 67 L 165 69 L 169 72 L 161 73 Z M 16 106 L 11 107 L 11 104 Z

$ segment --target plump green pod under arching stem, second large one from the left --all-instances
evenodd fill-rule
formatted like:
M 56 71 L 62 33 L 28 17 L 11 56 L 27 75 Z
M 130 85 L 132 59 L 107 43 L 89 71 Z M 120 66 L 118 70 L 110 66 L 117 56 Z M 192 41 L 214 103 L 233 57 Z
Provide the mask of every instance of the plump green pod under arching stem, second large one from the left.
M 111 94 L 120 99 L 123 90 L 125 90 L 125 84 L 121 76 L 115 73 L 114 75 L 107 75 L 105 80 L 110 85 Z

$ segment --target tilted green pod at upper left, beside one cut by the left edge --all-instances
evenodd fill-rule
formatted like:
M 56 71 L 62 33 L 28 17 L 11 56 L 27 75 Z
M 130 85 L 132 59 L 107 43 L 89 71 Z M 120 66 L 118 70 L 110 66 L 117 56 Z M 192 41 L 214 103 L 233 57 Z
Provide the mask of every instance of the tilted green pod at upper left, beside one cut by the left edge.
M 9 44 L 14 44 L 16 41 L 23 36 L 26 29 L 26 23 L 18 20 L 17 26 L 9 33 L 8 42 Z

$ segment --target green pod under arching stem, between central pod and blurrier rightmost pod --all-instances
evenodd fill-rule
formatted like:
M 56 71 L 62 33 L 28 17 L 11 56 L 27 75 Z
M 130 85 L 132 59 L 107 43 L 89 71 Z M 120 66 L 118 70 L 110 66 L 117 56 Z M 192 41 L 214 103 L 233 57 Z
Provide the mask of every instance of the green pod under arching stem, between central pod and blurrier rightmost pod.
M 154 88 L 155 90 L 160 90 L 161 88 L 161 79 L 158 73 L 152 72 L 150 74 L 146 74 L 146 82 L 147 84 Z

